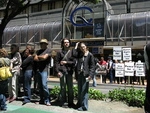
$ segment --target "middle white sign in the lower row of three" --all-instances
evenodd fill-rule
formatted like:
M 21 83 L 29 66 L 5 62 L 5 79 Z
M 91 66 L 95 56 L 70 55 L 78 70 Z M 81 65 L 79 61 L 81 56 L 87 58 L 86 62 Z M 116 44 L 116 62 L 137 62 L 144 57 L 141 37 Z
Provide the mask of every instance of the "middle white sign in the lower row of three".
M 134 76 L 134 62 L 125 62 L 125 76 Z

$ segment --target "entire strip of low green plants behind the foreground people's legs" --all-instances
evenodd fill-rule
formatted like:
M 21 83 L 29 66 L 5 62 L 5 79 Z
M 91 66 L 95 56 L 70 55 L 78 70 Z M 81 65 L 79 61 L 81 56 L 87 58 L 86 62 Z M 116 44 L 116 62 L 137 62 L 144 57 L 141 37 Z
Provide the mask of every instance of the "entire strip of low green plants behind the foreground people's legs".
M 77 86 L 73 87 L 74 91 L 74 97 L 78 97 L 78 88 Z M 60 87 L 55 86 L 51 90 L 51 97 L 57 98 L 60 92 Z M 112 91 L 109 91 L 108 94 L 103 94 L 99 90 L 89 88 L 89 99 L 94 100 L 107 100 L 110 99 L 111 101 L 121 101 L 126 103 L 128 106 L 136 106 L 136 107 L 142 107 L 144 105 L 145 100 L 145 90 L 140 89 L 136 90 L 133 87 L 129 89 L 113 89 Z

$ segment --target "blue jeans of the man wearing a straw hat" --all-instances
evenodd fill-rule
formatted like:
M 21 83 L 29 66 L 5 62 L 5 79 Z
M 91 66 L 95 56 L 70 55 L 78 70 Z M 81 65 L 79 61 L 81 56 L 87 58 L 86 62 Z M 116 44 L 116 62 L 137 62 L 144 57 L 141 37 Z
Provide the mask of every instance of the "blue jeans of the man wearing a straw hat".
M 47 71 L 37 71 L 38 75 L 38 84 L 39 84 L 39 91 L 40 91 L 40 101 L 46 103 L 50 103 L 49 97 L 49 89 L 47 87 Z

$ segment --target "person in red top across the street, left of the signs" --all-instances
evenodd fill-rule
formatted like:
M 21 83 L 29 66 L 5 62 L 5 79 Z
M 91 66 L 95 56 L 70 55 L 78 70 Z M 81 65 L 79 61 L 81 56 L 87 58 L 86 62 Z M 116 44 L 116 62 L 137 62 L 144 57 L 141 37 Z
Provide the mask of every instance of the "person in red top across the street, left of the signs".
M 107 62 L 104 60 L 104 57 L 101 57 L 99 64 L 101 67 L 103 67 L 102 71 L 106 70 Z M 105 74 L 102 74 L 102 83 L 106 83 L 106 75 L 107 75 L 107 71 Z

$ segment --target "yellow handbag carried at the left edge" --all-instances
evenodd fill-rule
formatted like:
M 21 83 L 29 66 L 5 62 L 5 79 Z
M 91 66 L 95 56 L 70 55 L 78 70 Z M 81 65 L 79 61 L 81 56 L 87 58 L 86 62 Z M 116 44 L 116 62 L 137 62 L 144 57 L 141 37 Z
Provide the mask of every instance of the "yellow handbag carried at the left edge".
M 12 77 L 10 67 L 6 65 L 5 61 L 2 60 L 3 67 L 0 68 L 0 80 L 6 80 Z

